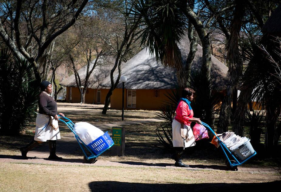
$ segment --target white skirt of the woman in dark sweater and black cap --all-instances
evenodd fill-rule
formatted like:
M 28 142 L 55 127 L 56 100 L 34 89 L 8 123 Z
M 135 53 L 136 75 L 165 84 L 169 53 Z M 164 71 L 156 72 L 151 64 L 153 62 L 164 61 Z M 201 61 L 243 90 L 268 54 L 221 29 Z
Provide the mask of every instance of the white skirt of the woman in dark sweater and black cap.
M 48 125 L 46 127 L 46 125 L 49 123 L 49 116 L 48 115 L 43 115 L 38 113 L 37 117 L 36 117 L 36 129 L 35 129 L 35 135 L 34 135 L 34 140 L 35 141 L 47 141 L 47 140 L 57 140 L 60 139 L 60 130 L 57 129 L 57 131 L 55 131 L 55 129 Z M 58 121 L 55 120 L 52 117 L 52 123 L 53 125 L 55 125 L 56 127 L 58 127 Z

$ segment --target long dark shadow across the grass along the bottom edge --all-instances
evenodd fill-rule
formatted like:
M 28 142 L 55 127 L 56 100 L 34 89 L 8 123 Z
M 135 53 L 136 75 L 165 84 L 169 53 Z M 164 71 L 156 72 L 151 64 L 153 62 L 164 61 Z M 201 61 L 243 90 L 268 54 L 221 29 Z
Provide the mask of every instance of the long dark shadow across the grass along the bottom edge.
M 169 181 L 167 181 L 169 182 Z M 118 181 L 94 181 L 89 183 L 91 191 L 246 191 L 258 188 L 268 190 L 269 187 L 280 186 L 280 181 L 267 183 L 196 183 L 196 184 L 181 184 L 181 183 L 129 183 Z

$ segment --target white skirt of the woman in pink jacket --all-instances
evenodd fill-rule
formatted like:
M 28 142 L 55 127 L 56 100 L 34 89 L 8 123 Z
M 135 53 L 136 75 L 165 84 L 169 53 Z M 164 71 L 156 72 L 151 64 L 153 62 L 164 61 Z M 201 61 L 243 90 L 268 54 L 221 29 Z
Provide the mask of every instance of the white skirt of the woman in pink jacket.
M 174 147 L 191 147 L 195 146 L 195 139 L 190 126 L 183 125 L 183 132 L 187 136 L 183 138 L 180 134 L 180 122 L 173 120 L 172 130 L 173 130 L 173 146 Z

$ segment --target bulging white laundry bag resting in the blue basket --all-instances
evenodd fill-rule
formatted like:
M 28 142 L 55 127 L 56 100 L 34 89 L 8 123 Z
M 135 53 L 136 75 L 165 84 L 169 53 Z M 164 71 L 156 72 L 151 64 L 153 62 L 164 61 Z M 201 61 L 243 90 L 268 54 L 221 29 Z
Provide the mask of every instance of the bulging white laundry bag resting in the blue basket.
M 94 125 L 91 125 L 87 122 L 75 123 L 73 131 L 86 145 L 90 144 L 104 134 L 101 129 L 98 129 Z

